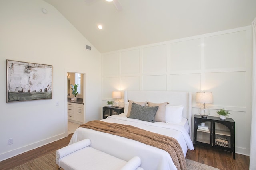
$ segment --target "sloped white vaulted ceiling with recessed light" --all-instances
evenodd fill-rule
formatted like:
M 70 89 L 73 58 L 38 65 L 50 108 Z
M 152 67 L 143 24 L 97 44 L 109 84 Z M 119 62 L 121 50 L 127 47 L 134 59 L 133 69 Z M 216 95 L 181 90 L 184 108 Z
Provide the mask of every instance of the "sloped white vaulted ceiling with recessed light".
M 256 0 L 44 0 L 100 51 L 251 25 Z M 103 29 L 98 29 L 98 25 Z

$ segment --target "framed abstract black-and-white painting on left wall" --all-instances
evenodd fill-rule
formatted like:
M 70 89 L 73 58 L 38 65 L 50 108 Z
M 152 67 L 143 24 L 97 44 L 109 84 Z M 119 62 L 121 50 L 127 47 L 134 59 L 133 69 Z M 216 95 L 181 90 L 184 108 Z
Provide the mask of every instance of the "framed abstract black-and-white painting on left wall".
M 6 60 L 6 102 L 52 99 L 52 65 Z

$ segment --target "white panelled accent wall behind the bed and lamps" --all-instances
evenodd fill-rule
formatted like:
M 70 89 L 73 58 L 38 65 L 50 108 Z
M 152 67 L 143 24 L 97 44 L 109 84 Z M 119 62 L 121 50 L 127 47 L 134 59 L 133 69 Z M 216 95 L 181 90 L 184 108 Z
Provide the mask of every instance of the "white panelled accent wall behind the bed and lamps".
M 251 26 L 102 54 L 102 105 L 114 90 L 213 92 L 212 116 L 224 108 L 236 121 L 236 153 L 249 154 Z

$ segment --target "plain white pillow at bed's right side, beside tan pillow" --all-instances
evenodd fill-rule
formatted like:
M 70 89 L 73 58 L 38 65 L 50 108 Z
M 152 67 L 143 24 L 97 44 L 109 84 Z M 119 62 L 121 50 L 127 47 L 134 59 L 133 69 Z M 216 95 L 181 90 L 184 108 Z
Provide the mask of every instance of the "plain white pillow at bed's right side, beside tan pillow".
M 180 123 L 182 118 L 183 106 L 166 106 L 165 119 L 166 123 Z

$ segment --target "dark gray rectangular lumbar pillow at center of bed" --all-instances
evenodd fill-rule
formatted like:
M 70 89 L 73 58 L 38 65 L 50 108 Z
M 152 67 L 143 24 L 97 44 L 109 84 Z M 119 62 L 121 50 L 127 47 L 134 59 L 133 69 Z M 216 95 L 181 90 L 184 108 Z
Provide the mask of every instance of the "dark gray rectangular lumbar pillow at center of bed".
M 156 115 L 157 109 L 158 109 L 158 106 L 145 107 L 136 103 L 132 103 L 131 113 L 128 118 L 155 122 L 154 117 Z

